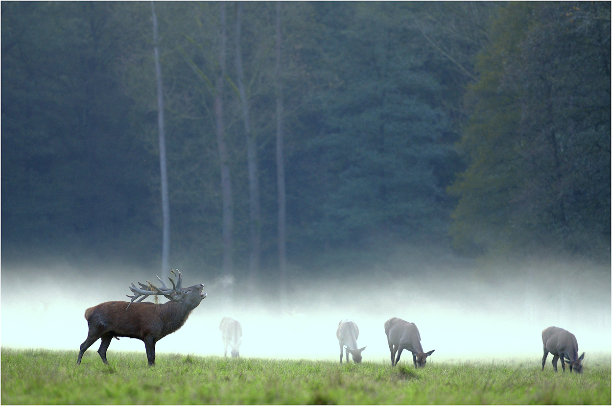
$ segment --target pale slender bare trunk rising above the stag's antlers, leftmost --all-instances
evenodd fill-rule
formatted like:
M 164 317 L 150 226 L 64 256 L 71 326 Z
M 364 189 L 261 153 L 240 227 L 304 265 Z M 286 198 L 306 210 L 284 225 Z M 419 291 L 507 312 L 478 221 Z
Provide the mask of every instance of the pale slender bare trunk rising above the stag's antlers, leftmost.
M 157 127 L 159 128 L 159 166 L 162 175 L 162 273 L 170 269 L 170 201 L 168 199 L 168 170 L 166 167 L 166 134 L 163 128 L 162 67 L 159 63 L 159 38 L 155 2 L 151 2 L 153 13 L 153 50 L 155 54 L 155 77 L 157 78 Z

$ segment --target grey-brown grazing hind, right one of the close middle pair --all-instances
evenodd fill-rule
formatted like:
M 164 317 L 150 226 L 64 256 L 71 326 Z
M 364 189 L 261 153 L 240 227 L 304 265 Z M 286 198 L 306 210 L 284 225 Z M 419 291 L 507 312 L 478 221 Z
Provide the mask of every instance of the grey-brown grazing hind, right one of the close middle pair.
M 414 323 L 401 320 L 401 318 L 393 317 L 385 321 L 384 332 L 387 334 L 387 342 L 389 342 L 392 366 L 397 365 L 400 361 L 402 350 L 411 351 L 415 367 L 417 367 L 417 364 L 419 367 L 424 367 L 427 363 L 427 357 L 435 351 L 423 352 L 423 347 L 420 345 L 419 329 Z M 397 358 L 395 358 L 395 353 L 397 353 Z

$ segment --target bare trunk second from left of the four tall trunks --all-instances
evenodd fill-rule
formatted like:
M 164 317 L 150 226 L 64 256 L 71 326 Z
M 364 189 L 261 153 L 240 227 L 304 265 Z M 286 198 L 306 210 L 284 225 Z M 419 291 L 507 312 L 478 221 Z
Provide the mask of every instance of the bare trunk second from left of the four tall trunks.
M 225 47 L 226 47 L 226 32 L 225 32 L 225 2 L 222 1 L 220 6 L 220 50 L 219 50 L 219 67 L 220 72 L 217 77 L 215 86 L 215 118 L 217 121 L 217 146 L 219 149 L 219 160 L 221 164 L 221 187 L 223 195 L 223 277 L 225 287 L 228 289 L 228 294 L 231 297 L 231 285 L 233 283 L 233 202 L 231 192 L 231 176 L 230 165 L 228 158 L 227 146 L 225 143 L 225 126 L 223 123 L 223 81 L 225 80 Z

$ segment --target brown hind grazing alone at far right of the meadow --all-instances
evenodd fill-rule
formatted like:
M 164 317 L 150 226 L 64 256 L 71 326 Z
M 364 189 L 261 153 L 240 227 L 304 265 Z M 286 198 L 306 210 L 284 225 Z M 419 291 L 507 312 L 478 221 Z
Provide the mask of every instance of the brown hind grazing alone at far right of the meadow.
M 578 356 L 578 341 L 576 336 L 567 330 L 559 327 L 551 326 L 542 331 L 542 343 L 544 344 L 544 356 L 542 357 L 542 370 L 546 364 L 546 358 L 550 352 L 553 356 L 553 369 L 557 372 L 557 361 L 561 359 L 561 367 L 565 372 L 565 362 L 570 366 L 570 372 L 572 369 L 577 374 L 582 374 L 582 360 L 584 359 L 584 353 Z M 564 361 L 564 358 L 569 361 Z

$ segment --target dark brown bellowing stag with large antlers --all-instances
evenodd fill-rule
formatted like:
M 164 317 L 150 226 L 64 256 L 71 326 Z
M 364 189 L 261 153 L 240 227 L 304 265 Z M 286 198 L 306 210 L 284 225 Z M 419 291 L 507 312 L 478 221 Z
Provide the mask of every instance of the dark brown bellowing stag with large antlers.
M 89 333 L 87 339 L 81 344 L 76 365 L 81 363 L 83 353 L 99 338 L 102 338 L 102 344 L 100 344 L 98 353 L 102 362 L 108 364 L 106 350 L 113 337 L 117 339 L 118 337 L 130 337 L 143 340 L 149 366 L 155 365 L 155 343 L 181 328 L 192 310 L 198 307 L 202 299 L 206 298 L 206 293 L 202 292 L 204 285 L 183 288 L 181 287 L 181 271 L 173 269 L 171 273 L 178 278 L 176 284 L 174 284 L 174 280 L 168 277 L 172 284 L 171 288 L 166 287 L 163 281 L 156 276 L 162 282 L 162 287 L 158 288 L 148 281 L 148 285 L 138 282 L 140 288 L 132 284 L 130 290 L 132 290 L 133 295 L 126 295 L 132 298 L 130 303 L 105 302 L 85 310 L 85 320 L 89 325 Z M 147 296 L 158 294 L 165 296 L 170 301 L 164 304 L 140 303 Z M 134 303 L 134 300 L 139 296 L 143 297 Z

